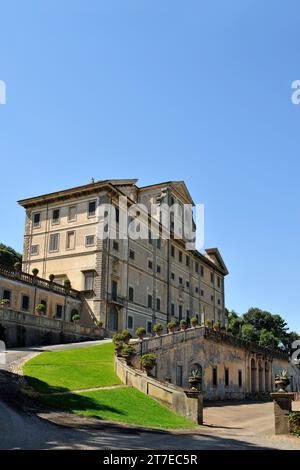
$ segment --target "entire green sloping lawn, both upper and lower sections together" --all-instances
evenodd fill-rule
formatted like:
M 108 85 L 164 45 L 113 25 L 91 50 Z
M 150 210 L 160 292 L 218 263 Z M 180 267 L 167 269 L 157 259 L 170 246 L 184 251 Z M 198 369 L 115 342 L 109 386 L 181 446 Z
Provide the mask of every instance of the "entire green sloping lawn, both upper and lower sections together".
M 121 384 L 114 372 L 112 343 L 69 351 L 43 352 L 28 361 L 23 371 L 29 384 L 43 394 L 39 400 L 56 409 L 153 428 L 195 426 L 188 419 L 176 415 L 131 387 L 53 395 L 54 392 Z

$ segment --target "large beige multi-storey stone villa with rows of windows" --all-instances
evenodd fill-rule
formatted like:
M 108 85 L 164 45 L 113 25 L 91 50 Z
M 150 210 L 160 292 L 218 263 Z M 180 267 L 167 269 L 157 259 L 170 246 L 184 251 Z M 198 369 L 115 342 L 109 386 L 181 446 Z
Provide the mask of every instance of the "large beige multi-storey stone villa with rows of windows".
M 69 279 L 111 333 L 140 326 L 150 333 L 154 322 L 165 325 L 195 315 L 200 322 L 209 319 L 224 325 L 227 268 L 216 248 L 200 253 L 187 249 L 185 236 L 174 236 L 174 226 L 182 222 L 180 211 L 170 214 L 169 238 L 163 236 L 161 218 L 144 209 L 145 224 L 157 228 L 158 238 L 152 238 L 152 228 L 150 237 L 139 239 L 123 237 L 119 228 L 120 198 L 127 198 L 129 214 L 134 209 L 129 222 L 135 223 L 140 215 L 137 205 L 147 210 L 153 204 L 193 206 L 186 185 L 170 181 L 138 187 L 136 183 L 136 179 L 98 181 L 19 201 L 26 210 L 23 270 L 38 268 L 41 277 L 54 274 L 60 283 Z M 103 210 L 109 204 L 114 217 Z M 103 237 L 105 231 L 114 230 L 115 237 Z

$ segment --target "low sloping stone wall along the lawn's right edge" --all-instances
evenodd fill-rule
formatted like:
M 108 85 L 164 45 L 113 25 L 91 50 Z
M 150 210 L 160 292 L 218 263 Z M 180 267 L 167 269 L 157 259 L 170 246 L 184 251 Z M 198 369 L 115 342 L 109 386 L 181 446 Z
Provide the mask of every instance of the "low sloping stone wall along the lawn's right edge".
M 116 357 L 115 370 L 126 385 L 137 388 L 141 392 L 159 400 L 172 408 L 181 416 L 189 418 L 197 424 L 203 423 L 203 399 L 199 393 L 192 396 L 179 387 L 163 383 L 144 372 L 126 365 L 125 361 Z

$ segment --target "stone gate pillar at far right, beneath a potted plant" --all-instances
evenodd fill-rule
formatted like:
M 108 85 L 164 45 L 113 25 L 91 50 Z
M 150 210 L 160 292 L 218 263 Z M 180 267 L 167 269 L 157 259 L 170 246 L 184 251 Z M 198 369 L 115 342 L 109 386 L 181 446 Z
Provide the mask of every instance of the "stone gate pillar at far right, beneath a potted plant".
M 289 434 L 289 413 L 292 411 L 294 393 L 274 392 L 270 395 L 274 400 L 275 434 Z

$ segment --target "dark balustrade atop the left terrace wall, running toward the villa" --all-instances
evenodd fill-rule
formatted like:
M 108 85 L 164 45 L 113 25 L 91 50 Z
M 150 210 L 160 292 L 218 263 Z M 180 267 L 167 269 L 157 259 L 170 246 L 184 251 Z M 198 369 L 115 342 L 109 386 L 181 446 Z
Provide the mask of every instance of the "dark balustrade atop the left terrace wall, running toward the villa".
M 69 295 L 75 299 L 79 298 L 80 296 L 80 293 L 75 289 L 66 289 L 64 286 L 56 284 L 55 282 L 47 281 L 41 277 L 32 276 L 31 274 L 24 273 L 23 271 L 17 271 L 8 266 L 0 265 L 0 276 L 1 275 L 8 279 L 24 282 L 26 284 L 56 292 L 61 295 Z

